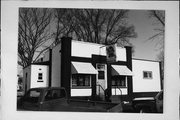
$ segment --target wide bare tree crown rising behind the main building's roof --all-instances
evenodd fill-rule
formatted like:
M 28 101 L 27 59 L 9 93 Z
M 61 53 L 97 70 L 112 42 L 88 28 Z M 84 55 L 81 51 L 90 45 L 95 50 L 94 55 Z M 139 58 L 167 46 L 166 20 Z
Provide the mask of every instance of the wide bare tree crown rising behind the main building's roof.
M 65 33 L 79 41 L 106 45 L 127 45 L 129 38 L 136 37 L 134 27 L 126 23 L 127 10 L 57 9 L 56 14 L 56 36 Z

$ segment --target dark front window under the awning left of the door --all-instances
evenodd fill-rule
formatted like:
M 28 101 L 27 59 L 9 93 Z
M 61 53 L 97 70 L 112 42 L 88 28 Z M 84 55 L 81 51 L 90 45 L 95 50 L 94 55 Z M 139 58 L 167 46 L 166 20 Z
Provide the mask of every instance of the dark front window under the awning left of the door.
M 90 75 L 73 74 L 72 87 L 91 87 Z

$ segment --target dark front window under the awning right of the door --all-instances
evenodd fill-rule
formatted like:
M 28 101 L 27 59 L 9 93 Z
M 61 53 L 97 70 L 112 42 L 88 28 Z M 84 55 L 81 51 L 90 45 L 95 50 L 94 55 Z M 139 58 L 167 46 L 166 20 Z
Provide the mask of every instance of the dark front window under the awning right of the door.
M 112 87 L 127 87 L 126 76 L 112 77 Z

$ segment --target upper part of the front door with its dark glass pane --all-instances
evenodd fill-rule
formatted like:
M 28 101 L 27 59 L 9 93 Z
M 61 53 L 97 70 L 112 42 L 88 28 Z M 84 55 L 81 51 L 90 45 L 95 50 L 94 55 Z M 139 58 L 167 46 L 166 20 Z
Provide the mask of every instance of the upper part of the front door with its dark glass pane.
M 105 64 L 97 64 L 96 69 L 98 70 L 98 79 L 105 79 Z

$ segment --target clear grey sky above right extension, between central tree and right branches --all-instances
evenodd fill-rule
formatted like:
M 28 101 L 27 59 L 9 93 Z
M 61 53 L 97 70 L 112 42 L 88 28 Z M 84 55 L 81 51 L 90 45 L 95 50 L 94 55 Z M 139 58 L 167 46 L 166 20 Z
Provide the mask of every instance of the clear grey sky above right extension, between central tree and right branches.
M 148 11 L 145 10 L 131 10 L 129 12 L 129 24 L 135 26 L 137 38 L 131 39 L 130 42 L 134 45 L 133 58 L 157 60 L 159 53 L 157 48 L 157 41 L 148 40 L 154 34 L 153 19 L 149 18 Z

